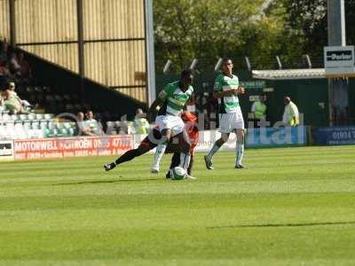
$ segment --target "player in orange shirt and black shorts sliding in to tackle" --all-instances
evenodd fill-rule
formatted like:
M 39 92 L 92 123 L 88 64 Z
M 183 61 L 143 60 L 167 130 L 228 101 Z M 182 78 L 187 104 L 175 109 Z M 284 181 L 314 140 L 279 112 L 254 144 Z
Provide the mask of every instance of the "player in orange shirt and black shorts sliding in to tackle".
M 194 155 L 194 147 L 197 145 L 197 141 L 199 138 L 199 131 L 195 126 L 195 121 L 197 120 L 196 116 L 189 112 L 183 112 L 181 114 L 182 120 L 185 122 L 185 130 L 188 133 L 190 141 L 192 143 L 190 152 L 191 152 L 191 161 L 190 165 L 187 168 L 188 175 L 191 175 L 192 167 L 193 167 L 193 155 Z M 171 159 L 170 168 L 177 167 L 180 164 L 180 152 L 181 146 L 179 145 L 179 139 L 182 137 L 183 133 L 177 134 L 177 136 L 171 137 L 170 142 L 166 148 L 165 153 L 174 153 Z M 104 165 L 106 171 L 112 170 L 117 165 L 133 160 L 134 158 L 143 155 L 144 153 L 148 153 L 150 150 L 153 150 L 158 143 L 162 140 L 162 134 L 159 129 L 155 128 L 149 132 L 149 135 L 143 139 L 137 149 L 130 150 L 124 153 L 117 160 L 114 160 L 111 163 L 107 163 Z M 167 173 L 167 178 L 170 178 L 170 171 Z

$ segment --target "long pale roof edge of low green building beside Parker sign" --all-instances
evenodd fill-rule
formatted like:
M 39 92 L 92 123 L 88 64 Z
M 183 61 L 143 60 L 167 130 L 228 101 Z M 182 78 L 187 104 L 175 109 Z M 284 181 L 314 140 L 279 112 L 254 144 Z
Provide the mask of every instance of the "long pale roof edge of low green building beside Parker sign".
M 324 68 L 253 70 L 253 78 L 262 80 L 326 79 Z

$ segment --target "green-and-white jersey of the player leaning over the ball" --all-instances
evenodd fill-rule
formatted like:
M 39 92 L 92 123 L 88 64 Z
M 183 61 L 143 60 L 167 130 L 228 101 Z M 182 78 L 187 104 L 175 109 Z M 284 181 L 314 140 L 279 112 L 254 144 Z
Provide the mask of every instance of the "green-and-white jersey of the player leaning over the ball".
M 167 84 L 158 95 L 158 98 L 164 102 L 159 114 L 179 115 L 192 95 L 193 86 L 189 86 L 184 92 L 180 89 L 180 82 Z

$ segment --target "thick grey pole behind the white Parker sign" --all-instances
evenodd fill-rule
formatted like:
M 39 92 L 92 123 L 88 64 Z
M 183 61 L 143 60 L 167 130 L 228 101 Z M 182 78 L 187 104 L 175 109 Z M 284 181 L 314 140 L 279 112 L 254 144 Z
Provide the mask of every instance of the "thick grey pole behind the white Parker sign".
M 345 7 L 343 0 L 327 0 L 327 43 L 328 46 L 345 46 Z M 333 126 L 334 91 L 342 90 L 341 82 L 328 79 L 329 126 Z

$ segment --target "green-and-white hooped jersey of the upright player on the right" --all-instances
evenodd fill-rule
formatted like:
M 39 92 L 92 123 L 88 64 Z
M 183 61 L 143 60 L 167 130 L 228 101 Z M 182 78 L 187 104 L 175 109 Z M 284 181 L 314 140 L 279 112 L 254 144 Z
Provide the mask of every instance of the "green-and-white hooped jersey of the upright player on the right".
M 236 75 L 229 77 L 223 73 L 218 74 L 215 81 L 215 91 L 225 91 L 238 89 L 239 80 Z M 218 98 L 219 113 L 236 113 L 240 107 L 239 98 L 236 95 L 225 96 Z

